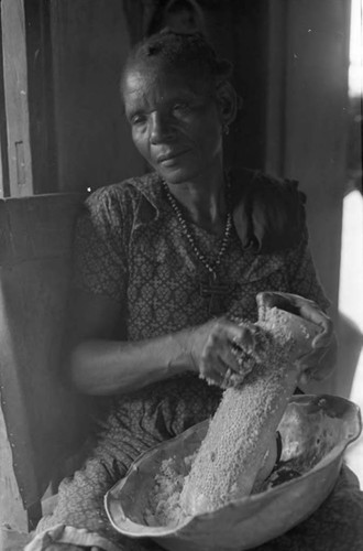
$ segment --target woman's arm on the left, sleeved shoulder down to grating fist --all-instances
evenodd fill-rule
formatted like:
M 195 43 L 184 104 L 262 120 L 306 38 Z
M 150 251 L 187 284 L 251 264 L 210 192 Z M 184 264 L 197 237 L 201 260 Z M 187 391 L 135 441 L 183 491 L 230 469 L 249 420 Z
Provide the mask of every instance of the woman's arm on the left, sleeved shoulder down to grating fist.
M 237 339 L 251 347 L 253 328 L 219 318 L 136 343 L 127 342 L 127 333 L 120 331 L 127 312 L 129 241 L 138 218 L 132 190 L 96 191 L 77 222 L 73 283 L 77 291 L 66 353 L 72 381 L 85 393 L 116 395 L 186 370 L 216 385 L 223 385 L 226 372 L 238 378 L 231 344 Z

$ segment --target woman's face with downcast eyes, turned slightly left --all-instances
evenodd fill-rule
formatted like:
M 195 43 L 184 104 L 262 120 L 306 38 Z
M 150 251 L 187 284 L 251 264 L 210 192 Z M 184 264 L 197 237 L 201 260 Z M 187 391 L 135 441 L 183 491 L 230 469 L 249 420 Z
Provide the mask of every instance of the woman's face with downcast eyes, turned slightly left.
M 167 182 L 221 169 L 222 116 L 201 79 L 142 64 L 129 69 L 122 93 L 134 144 Z

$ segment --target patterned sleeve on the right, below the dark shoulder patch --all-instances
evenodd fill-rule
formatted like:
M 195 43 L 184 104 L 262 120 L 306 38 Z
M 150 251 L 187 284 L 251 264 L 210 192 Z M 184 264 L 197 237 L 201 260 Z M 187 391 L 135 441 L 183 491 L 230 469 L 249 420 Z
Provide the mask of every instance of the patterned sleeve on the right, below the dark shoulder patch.
M 287 252 L 287 267 L 290 292 L 315 301 L 323 312 L 327 312 L 330 301 L 324 294 L 314 266 L 307 230 L 298 247 Z

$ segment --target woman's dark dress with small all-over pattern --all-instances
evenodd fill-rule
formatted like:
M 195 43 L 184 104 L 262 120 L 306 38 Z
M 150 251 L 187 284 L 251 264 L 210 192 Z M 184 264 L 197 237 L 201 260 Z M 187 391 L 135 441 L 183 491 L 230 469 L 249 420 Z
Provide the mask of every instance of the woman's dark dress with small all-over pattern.
M 190 226 L 207 258 L 213 258 L 220 239 Z M 77 225 L 75 258 L 76 287 L 120 303 L 125 313 L 121 339 L 153 338 L 210 318 L 208 293 L 200 293 L 207 273 L 180 233 L 156 174 L 100 188 L 88 197 Z M 256 255 L 244 250 L 233 231 L 220 274 L 229 290 L 221 298 L 228 315 L 256 321 L 255 296 L 267 290 L 300 294 L 323 310 L 329 305 L 317 280 L 307 234 L 295 248 Z M 29 550 L 46 549 L 53 539 L 110 551 L 161 549 L 116 532 L 107 519 L 103 496 L 142 452 L 211 415 L 220 398 L 218 387 L 191 372 L 116 397 L 108 418 L 99 423 L 91 456 L 81 471 L 61 484 L 58 504 L 41 521 L 40 534 Z M 358 550 L 355 540 L 359 537 L 363 542 L 362 529 L 358 536 L 351 522 L 362 512 L 361 497 L 351 497 L 346 488 L 355 483 L 348 483 L 345 476 L 328 505 L 258 550 Z M 349 529 L 342 508 L 350 511 Z

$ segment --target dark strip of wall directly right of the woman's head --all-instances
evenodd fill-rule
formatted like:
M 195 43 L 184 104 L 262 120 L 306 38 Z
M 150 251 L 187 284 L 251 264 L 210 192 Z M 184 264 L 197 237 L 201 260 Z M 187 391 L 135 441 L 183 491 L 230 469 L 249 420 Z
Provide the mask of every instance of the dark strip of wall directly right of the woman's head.
M 242 100 L 226 141 L 226 161 L 263 169 L 265 162 L 266 0 L 201 2 L 207 32 L 220 55 L 233 63 L 233 85 Z

